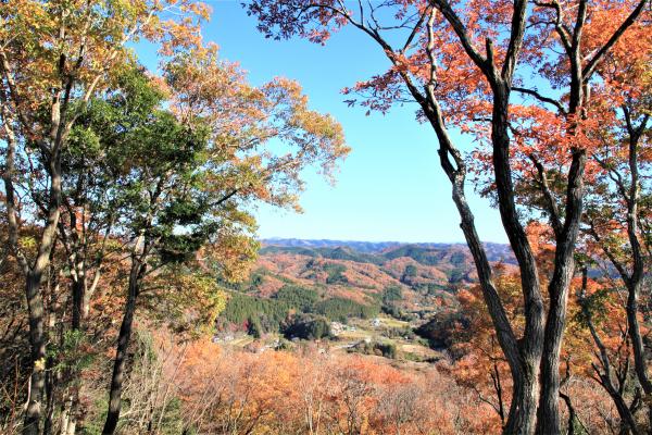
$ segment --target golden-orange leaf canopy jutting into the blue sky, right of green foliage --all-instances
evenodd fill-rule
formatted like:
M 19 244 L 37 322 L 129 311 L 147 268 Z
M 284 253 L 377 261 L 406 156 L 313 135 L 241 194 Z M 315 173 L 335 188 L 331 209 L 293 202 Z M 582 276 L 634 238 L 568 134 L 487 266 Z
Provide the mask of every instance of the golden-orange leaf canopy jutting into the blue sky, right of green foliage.
M 174 57 L 165 78 L 173 111 L 210 132 L 209 160 L 228 167 L 226 184 L 241 198 L 299 210 L 302 170 L 318 165 L 331 181 L 350 150 L 341 125 L 310 110 L 297 82 L 276 77 L 251 86 L 238 64 L 218 58 L 216 46 Z

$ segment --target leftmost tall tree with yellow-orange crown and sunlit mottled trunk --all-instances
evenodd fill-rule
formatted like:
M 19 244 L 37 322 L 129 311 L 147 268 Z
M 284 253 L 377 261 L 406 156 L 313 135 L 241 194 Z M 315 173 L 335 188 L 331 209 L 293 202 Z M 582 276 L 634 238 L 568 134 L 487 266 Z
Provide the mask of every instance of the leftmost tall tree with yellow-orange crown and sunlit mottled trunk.
M 179 11 L 185 21 L 170 14 Z M 167 50 L 190 46 L 197 42 L 192 16 L 204 14 L 199 3 L 189 1 L 20 0 L 0 5 L 8 241 L 25 277 L 33 362 L 26 434 L 39 432 L 42 413 L 47 338 L 41 281 L 61 215 L 61 157 L 78 114 L 74 108 L 101 91 L 128 62 L 127 42 L 146 37 L 162 40 Z M 45 186 L 45 197 L 29 201 L 33 198 L 26 192 L 32 184 Z M 23 220 L 41 228 L 33 254 L 21 246 Z

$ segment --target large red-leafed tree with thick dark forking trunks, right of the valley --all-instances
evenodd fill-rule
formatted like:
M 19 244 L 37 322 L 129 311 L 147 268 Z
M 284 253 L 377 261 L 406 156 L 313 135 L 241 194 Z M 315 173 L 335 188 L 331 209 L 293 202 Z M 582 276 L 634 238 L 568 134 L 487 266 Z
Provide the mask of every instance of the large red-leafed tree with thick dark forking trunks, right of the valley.
M 331 32 L 350 25 L 372 38 L 390 67 L 348 92 L 363 104 L 387 111 L 411 99 L 439 142 L 441 167 L 452 186 L 461 227 L 473 253 L 485 303 L 510 366 L 513 391 L 505 433 L 554 434 L 559 412 L 560 355 L 568 288 L 585 197 L 590 132 L 600 124 L 589 109 L 597 71 L 627 30 L 640 20 L 647 0 L 560 2 L 527 0 L 252 0 L 248 12 L 268 37 L 300 35 L 324 44 Z M 519 66 L 517 69 L 517 66 Z M 543 92 L 538 88 L 546 88 Z M 514 126 L 519 126 L 514 132 Z M 465 160 L 449 128 L 473 134 L 488 145 L 488 159 Z M 552 149 L 543 160 L 541 149 Z M 525 172 L 525 160 L 538 172 Z M 484 165 L 502 224 L 518 261 L 525 324 L 517 334 L 497 291 L 492 268 L 477 234 L 466 199 L 469 165 Z M 559 203 L 548 166 L 560 171 Z M 554 253 L 544 307 L 541 271 L 526 237 L 515 184 L 528 174 L 539 190 L 554 232 Z M 530 213 L 536 216 L 536 213 Z M 539 219 L 546 219 L 539 216 Z

